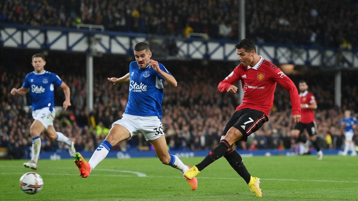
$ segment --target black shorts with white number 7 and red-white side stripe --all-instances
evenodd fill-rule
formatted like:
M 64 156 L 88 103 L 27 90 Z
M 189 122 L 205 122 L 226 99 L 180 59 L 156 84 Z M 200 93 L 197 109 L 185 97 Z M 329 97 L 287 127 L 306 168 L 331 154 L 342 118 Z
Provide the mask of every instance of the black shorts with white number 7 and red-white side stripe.
M 222 135 L 226 135 L 229 129 L 234 127 L 243 134 L 243 138 L 240 141 L 246 142 L 247 136 L 257 131 L 267 121 L 269 121 L 269 118 L 261 111 L 249 108 L 240 109 L 226 123 Z

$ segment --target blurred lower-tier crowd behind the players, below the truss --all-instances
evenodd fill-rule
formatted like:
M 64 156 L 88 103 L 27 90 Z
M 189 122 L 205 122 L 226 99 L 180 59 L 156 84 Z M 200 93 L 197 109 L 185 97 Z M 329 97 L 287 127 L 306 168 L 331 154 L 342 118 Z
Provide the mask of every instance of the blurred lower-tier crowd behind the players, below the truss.
M 57 131 L 68 137 L 76 139 L 78 151 L 93 151 L 103 141 L 111 128 L 112 122 L 120 119 L 124 112 L 128 98 L 128 84 L 113 85 L 107 77 L 120 77 L 128 71 L 126 65 L 119 65 L 115 59 L 99 58 L 100 63 L 95 66 L 94 79 L 94 109 L 86 109 L 86 78 L 81 74 L 83 62 L 80 59 L 66 60 L 71 67 L 65 67 L 64 60 L 48 58 L 46 70 L 58 74 L 71 88 L 71 103 L 67 111 L 58 112 L 54 120 Z M 107 63 L 103 62 L 107 61 Z M 20 62 L 20 61 L 15 61 Z M 22 61 L 23 62 L 23 61 Z M 123 62 L 122 62 L 123 63 Z M 129 63 L 129 62 L 127 62 Z M 225 78 L 236 64 L 197 64 L 196 68 L 189 67 L 190 63 L 176 64 L 165 62 L 166 67 L 178 81 L 178 87 L 171 88 L 165 85 L 163 102 L 163 127 L 166 134 L 168 148 L 171 150 L 201 150 L 215 147 L 219 142 L 222 130 L 238 104 L 238 95 L 228 95 L 217 90 L 217 84 Z M 13 96 L 10 90 L 21 87 L 26 73 L 32 70 L 29 65 L 14 65 L 14 68 L 0 70 L 0 147 L 6 147 L 9 158 L 23 158 L 31 147 L 29 128 L 33 122 L 32 115 L 26 112 L 27 96 Z M 113 68 L 116 66 L 116 68 Z M 225 66 L 225 67 L 223 67 Z M 12 70 L 9 70 L 12 69 Z M 78 69 L 73 71 L 71 69 Z M 205 70 L 203 70 L 205 69 Z M 216 73 L 212 73 L 216 72 Z M 353 82 L 354 75 L 344 74 L 343 82 Z M 301 75 L 290 75 L 298 84 Z M 318 137 L 325 149 L 339 149 L 344 138 L 343 129 L 339 121 L 343 118 L 344 109 L 352 109 L 357 114 L 358 102 L 357 86 L 342 84 L 343 106 L 335 109 L 334 86 L 332 73 L 313 74 L 305 76 L 308 80 L 309 90 L 318 102 L 316 122 L 318 124 Z M 61 88 L 55 89 L 55 104 L 61 106 L 64 95 Z M 291 119 L 291 105 L 289 94 L 279 85 L 275 92 L 275 102 L 269 122 L 254 134 L 247 143 L 239 143 L 239 149 L 294 149 L 295 139 L 291 137 L 294 126 Z M 357 131 L 356 131 L 357 133 Z M 49 141 L 41 135 L 42 151 L 63 150 L 63 144 Z M 142 136 L 122 142 L 114 147 L 117 150 L 150 149 Z

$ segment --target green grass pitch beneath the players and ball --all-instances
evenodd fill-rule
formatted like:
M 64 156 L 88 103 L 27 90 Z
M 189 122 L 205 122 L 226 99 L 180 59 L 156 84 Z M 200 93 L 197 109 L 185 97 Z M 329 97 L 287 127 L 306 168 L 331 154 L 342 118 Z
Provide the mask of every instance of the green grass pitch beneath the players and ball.
M 203 157 L 182 158 L 190 166 Z M 88 158 L 86 158 L 88 160 Z M 190 190 L 179 170 L 158 158 L 105 159 L 88 178 L 78 176 L 73 160 L 39 160 L 44 188 L 35 195 L 21 192 L 19 178 L 29 168 L 24 160 L 0 160 L 0 200 L 357 200 L 358 157 L 315 156 L 244 158 L 248 171 L 261 178 L 257 198 L 224 158 L 198 176 Z M 133 171 L 146 174 L 139 177 Z

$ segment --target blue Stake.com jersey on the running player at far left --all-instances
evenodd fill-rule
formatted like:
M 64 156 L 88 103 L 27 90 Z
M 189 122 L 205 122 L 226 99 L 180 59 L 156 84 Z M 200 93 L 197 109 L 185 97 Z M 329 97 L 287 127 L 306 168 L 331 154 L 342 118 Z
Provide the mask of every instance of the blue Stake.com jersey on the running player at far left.
M 26 75 L 22 86 L 30 88 L 30 109 L 37 110 L 50 107 L 50 111 L 52 111 L 55 106 L 53 98 L 54 84 L 61 85 L 61 78 L 46 70 L 43 73 L 31 72 Z

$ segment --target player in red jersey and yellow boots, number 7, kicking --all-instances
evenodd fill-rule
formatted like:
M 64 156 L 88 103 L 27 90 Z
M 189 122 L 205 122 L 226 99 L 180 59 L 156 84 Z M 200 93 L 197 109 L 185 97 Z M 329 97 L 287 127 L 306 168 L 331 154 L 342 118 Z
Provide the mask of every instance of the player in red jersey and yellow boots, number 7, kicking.
M 250 190 L 257 197 L 262 197 L 260 179 L 252 177 L 243 165 L 242 158 L 234 147 L 238 141 L 257 131 L 269 120 L 269 112 L 274 101 L 276 83 L 285 88 L 291 97 L 292 119 L 295 123 L 301 120 L 300 99 L 295 84 L 279 68 L 256 53 L 255 44 L 243 39 L 235 45 L 241 64 L 234 68 L 218 85 L 220 92 L 234 94 L 234 85 L 241 80 L 244 96 L 242 103 L 227 122 L 220 143 L 212 149 L 202 162 L 184 173 L 188 179 L 198 175 L 205 167 L 224 156 L 234 170 L 246 181 Z

